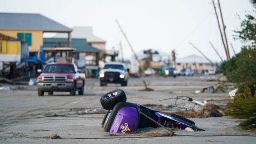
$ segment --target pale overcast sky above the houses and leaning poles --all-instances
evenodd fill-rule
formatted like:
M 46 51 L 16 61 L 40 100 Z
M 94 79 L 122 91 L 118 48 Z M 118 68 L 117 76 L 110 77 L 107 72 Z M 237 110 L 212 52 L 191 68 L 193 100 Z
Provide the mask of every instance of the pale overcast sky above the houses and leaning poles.
M 115 19 L 121 23 L 135 51 L 156 49 L 170 54 L 175 49 L 179 58 L 200 55 L 189 45 L 192 42 L 210 59 L 220 61 L 209 44 L 211 41 L 226 59 L 212 0 L 0 0 L 0 3 L 0 12 L 41 13 L 68 27 L 92 26 L 94 34 L 107 41 L 107 49 L 119 49 L 122 41 L 125 58 L 132 52 Z M 233 40 L 233 31 L 241 23 L 237 14 L 244 18 L 253 6 L 249 0 L 220 0 L 220 3 L 232 56 L 230 43 L 236 52 L 243 45 Z

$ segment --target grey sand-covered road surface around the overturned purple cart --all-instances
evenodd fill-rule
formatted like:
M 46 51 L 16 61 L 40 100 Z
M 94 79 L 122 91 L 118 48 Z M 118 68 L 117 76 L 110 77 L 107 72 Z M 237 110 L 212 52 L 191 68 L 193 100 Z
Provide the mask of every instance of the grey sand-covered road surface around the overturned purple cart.
M 145 88 L 143 80 L 154 92 L 139 91 Z M 237 127 L 238 119 L 226 116 L 192 118 L 206 132 L 175 130 L 175 134 L 183 136 L 134 138 L 135 134 L 121 138 L 109 137 L 108 133 L 103 132 L 103 114 L 77 115 L 77 112 L 86 109 L 101 108 L 101 95 L 114 89 L 123 89 L 128 102 L 141 105 L 164 107 L 173 105 L 174 100 L 158 101 L 159 99 L 186 95 L 197 100 L 212 99 L 215 104 L 225 106 L 229 99 L 227 93 L 195 93 L 196 90 L 215 86 L 216 83 L 199 77 L 141 77 L 130 78 L 126 87 L 118 84 L 99 87 L 98 79 L 86 79 L 85 94 L 75 97 L 65 92 L 38 97 L 36 86 L 11 86 L 22 90 L 0 91 L 0 143 L 255 143 L 256 137 L 243 136 L 255 136 L 255 131 L 240 129 Z M 53 115 L 62 116 L 47 117 Z M 160 128 L 146 131 L 164 130 Z M 86 139 L 43 138 L 55 133 L 61 138 Z M 185 134 L 190 136 L 184 136 Z M 216 136 L 221 134 L 236 136 Z

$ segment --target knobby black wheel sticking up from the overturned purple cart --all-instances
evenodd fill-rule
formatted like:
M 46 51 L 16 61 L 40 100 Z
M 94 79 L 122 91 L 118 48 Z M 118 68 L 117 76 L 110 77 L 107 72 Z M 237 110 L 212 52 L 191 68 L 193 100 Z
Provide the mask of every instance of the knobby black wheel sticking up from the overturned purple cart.
M 123 101 L 126 101 L 126 95 L 123 90 L 110 91 L 100 98 L 101 106 L 107 110 L 112 110 L 118 102 Z

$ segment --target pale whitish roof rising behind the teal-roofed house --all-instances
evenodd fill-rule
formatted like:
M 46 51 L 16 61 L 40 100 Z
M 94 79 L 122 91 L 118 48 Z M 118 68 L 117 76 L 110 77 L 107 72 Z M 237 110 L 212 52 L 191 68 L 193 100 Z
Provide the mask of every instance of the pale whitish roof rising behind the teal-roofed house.
M 73 27 L 71 33 L 72 38 L 86 38 L 87 42 L 106 42 L 105 40 L 94 36 L 92 27 Z M 54 38 L 67 38 L 68 35 L 64 33 L 53 36 Z

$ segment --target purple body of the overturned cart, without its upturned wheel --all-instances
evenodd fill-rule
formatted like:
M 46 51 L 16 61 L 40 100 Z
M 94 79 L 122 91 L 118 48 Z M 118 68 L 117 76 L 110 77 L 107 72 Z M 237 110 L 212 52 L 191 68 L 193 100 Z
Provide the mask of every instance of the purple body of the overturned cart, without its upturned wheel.
M 105 131 L 110 133 L 127 133 L 134 132 L 137 129 L 144 127 L 158 127 L 157 123 L 140 113 L 146 114 L 148 117 L 161 123 L 165 127 L 182 130 L 186 129 L 186 127 L 190 127 L 195 131 L 201 130 L 188 121 L 186 122 L 177 117 L 166 115 L 159 111 L 138 105 L 137 103 L 130 102 L 117 103 L 111 113 L 106 114 L 102 121 L 102 125 L 105 127 Z

